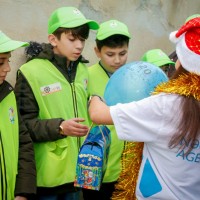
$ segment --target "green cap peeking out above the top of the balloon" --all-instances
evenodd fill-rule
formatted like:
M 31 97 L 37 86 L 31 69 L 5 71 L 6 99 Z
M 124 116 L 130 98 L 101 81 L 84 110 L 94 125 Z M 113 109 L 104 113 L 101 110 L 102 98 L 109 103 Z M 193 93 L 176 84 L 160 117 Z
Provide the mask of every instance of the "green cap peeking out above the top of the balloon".
M 175 65 L 175 63 L 171 61 L 170 58 L 167 56 L 167 54 L 165 54 L 161 49 L 152 49 L 152 50 L 147 51 L 142 56 L 141 60 L 152 63 L 158 67 L 161 67 L 167 64 Z

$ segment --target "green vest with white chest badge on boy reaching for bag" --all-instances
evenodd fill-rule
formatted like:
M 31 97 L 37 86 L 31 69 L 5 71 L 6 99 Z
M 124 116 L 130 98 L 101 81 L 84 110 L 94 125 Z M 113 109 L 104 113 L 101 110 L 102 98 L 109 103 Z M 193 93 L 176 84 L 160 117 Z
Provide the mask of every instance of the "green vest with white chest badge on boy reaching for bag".
M 86 66 L 80 63 L 73 84 L 48 60 L 34 59 L 20 68 L 39 106 L 39 119 L 83 117 L 88 125 Z M 76 106 L 77 105 L 77 106 Z M 81 144 L 84 138 L 80 138 Z M 66 137 L 34 143 L 37 186 L 54 187 L 74 182 L 79 152 L 78 139 Z

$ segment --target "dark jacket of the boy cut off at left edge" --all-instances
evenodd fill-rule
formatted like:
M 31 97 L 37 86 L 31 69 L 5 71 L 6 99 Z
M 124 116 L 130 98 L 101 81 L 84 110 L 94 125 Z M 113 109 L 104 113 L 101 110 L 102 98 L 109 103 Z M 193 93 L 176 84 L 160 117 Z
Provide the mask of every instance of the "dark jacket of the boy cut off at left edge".
M 12 86 L 4 81 L 0 85 L 0 102 L 13 91 Z M 19 159 L 18 159 L 18 175 L 16 179 L 15 195 L 21 195 L 28 198 L 33 197 L 36 193 L 36 169 L 33 143 L 28 130 L 19 119 Z

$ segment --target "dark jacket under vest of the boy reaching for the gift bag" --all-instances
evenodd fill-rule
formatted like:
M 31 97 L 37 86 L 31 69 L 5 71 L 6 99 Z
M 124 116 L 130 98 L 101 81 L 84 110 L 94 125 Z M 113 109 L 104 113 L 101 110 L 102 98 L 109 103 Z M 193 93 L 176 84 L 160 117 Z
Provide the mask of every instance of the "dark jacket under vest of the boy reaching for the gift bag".
M 27 62 L 34 58 L 47 59 L 63 74 L 66 80 L 70 83 L 75 79 L 78 63 L 87 62 L 82 58 L 82 56 L 80 56 L 77 61 L 71 62 L 70 67 L 67 68 L 66 58 L 55 55 L 50 44 L 39 44 L 35 42 L 31 42 L 30 44 L 31 45 L 25 50 L 25 53 L 28 57 Z M 30 130 L 30 135 L 34 142 L 55 141 L 65 137 L 59 133 L 59 125 L 64 119 L 38 119 L 38 103 L 28 81 L 20 72 L 20 70 L 18 71 L 17 75 L 15 93 L 20 113 L 22 113 L 22 117 L 28 129 Z M 74 191 L 75 189 L 76 188 L 74 188 L 73 183 L 68 183 L 53 188 L 38 187 L 38 194 L 58 194 L 64 191 Z

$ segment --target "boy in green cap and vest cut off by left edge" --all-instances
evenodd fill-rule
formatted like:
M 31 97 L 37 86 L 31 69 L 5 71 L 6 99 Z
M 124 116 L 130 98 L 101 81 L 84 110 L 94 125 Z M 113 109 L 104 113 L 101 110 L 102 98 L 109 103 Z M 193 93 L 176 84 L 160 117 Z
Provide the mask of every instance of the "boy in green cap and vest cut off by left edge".
M 33 144 L 18 115 L 10 72 L 11 52 L 28 43 L 10 39 L 0 31 L 0 199 L 27 200 L 36 193 Z

